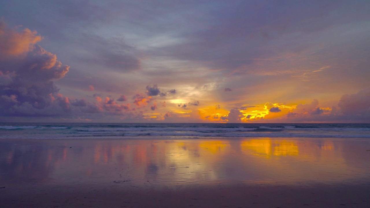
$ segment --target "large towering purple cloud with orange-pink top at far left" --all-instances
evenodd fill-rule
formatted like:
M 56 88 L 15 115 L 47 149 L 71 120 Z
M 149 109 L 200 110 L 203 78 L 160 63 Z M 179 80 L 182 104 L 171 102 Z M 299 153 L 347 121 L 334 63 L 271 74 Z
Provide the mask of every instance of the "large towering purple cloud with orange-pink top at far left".
M 36 45 L 42 38 L 24 29 L 11 30 L 0 23 L 0 112 L 5 116 L 61 115 L 70 112 L 67 97 L 54 80 L 63 78 L 69 66 Z M 9 102 L 16 98 L 18 102 Z M 14 99 L 13 99 L 14 100 Z

